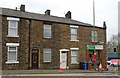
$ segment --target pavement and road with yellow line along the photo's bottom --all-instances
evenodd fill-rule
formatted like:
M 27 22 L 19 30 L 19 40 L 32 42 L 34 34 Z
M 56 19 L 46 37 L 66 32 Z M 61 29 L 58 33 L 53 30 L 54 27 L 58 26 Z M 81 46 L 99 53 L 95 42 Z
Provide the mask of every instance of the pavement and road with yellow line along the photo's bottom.
M 119 78 L 118 71 L 68 69 L 55 70 L 3 70 L 2 78 Z

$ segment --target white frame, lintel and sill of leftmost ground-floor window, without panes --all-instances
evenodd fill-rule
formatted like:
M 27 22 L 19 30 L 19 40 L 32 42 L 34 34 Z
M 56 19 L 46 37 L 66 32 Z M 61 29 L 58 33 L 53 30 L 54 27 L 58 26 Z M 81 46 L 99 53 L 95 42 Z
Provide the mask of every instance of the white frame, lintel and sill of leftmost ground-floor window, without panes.
M 6 43 L 6 46 L 8 47 L 7 48 L 7 61 L 6 61 L 6 64 L 12 64 L 12 63 L 19 63 L 19 61 L 17 61 L 17 54 L 18 54 L 18 46 L 19 46 L 19 43 Z M 16 60 L 15 61 L 11 61 L 9 60 L 9 48 L 10 47 L 16 47 Z

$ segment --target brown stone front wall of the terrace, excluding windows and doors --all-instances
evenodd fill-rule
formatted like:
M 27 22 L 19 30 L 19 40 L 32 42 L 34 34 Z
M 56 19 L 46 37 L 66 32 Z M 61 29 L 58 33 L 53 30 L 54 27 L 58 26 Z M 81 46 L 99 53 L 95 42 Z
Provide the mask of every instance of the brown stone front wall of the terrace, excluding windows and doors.
M 38 49 L 38 68 L 39 69 L 55 69 L 60 66 L 60 49 L 79 48 L 78 62 L 86 61 L 86 46 L 93 44 L 91 38 L 91 31 L 98 31 L 98 43 L 105 41 L 105 29 L 92 28 L 86 26 L 79 26 L 78 28 L 78 40 L 70 41 L 71 32 L 70 25 L 52 23 L 52 38 L 43 37 L 43 25 L 44 21 L 29 20 L 20 18 L 18 33 L 19 37 L 9 38 L 7 37 L 8 22 L 7 17 L 3 16 L 3 69 L 28 69 L 32 68 L 31 58 L 32 49 Z M 30 30 L 29 30 L 30 27 Z M 30 34 L 29 34 L 30 33 Z M 30 37 L 30 39 L 29 39 Z M 30 40 L 30 42 L 29 42 Z M 18 64 L 6 64 L 7 61 L 7 46 L 6 43 L 20 43 L 18 47 Z M 105 45 L 105 44 L 104 44 Z M 50 63 L 43 62 L 43 49 L 52 49 L 52 60 Z M 30 62 L 29 62 L 29 50 L 30 50 Z M 71 64 L 71 51 L 68 52 L 68 66 L 69 68 L 79 68 L 79 64 Z

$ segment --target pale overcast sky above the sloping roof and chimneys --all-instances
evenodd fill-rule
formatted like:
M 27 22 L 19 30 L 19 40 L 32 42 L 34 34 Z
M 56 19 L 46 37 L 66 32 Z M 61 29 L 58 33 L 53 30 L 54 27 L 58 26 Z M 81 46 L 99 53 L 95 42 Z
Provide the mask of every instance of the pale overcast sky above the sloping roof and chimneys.
M 118 33 L 118 2 L 120 0 L 94 0 L 96 26 L 107 24 L 107 40 Z M 21 4 L 26 11 L 44 14 L 46 9 L 51 15 L 64 17 L 67 11 L 72 12 L 72 19 L 93 24 L 93 0 L 0 0 L 0 7 L 15 9 Z

